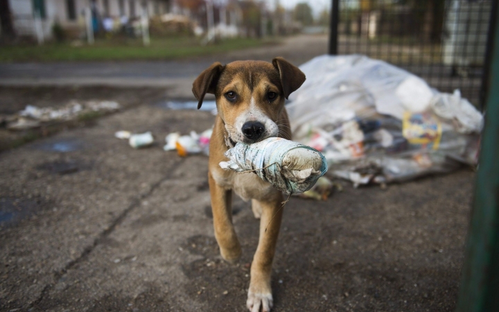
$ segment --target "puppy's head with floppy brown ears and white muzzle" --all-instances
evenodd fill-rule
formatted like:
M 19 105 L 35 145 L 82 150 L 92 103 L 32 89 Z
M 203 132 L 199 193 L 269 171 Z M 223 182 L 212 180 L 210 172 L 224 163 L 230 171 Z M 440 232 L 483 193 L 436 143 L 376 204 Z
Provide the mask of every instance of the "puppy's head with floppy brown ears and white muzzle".
M 219 62 L 205 69 L 193 83 L 198 109 L 204 95 L 215 94 L 218 115 L 225 123 L 227 138 L 251 144 L 279 135 L 284 101 L 305 81 L 305 75 L 283 58 L 272 63 Z

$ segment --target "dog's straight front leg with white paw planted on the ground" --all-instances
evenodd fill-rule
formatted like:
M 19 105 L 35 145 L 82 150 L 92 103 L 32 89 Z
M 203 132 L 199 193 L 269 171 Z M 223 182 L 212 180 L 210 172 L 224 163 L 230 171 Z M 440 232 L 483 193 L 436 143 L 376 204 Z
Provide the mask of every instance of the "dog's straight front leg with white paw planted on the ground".
M 258 248 L 253 257 L 251 266 L 251 281 L 249 282 L 248 298 L 246 305 L 249 311 L 263 312 L 272 309 L 272 288 L 270 286 L 270 275 L 272 272 L 272 260 L 281 227 L 282 194 L 276 192 L 272 200 L 258 201 L 261 207 L 260 239 Z M 267 229 L 265 231 L 265 229 Z

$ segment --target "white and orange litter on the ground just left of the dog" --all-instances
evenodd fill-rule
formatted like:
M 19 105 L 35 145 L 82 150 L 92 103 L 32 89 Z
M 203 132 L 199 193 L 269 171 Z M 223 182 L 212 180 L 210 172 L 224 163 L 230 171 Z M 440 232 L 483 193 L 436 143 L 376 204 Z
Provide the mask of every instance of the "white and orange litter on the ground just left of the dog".
M 198 134 L 191 131 L 191 135 L 180 135 L 179 132 L 173 132 L 166 136 L 166 145 L 164 150 L 177 150 L 177 153 L 185 157 L 189 154 L 198 154 L 203 152 L 208 155 L 209 141 L 213 129 L 205 130 Z

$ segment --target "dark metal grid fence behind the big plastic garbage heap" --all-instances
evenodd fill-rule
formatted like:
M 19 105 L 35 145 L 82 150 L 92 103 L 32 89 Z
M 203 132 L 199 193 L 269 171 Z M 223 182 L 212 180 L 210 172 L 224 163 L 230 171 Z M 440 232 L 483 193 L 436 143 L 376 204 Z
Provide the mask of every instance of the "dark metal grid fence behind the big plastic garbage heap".
M 362 53 L 484 103 L 497 0 L 335 0 L 333 53 Z M 338 18 L 335 18 L 336 17 Z M 491 19 L 492 16 L 492 19 Z M 336 46 L 335 46 L 336 44 Z

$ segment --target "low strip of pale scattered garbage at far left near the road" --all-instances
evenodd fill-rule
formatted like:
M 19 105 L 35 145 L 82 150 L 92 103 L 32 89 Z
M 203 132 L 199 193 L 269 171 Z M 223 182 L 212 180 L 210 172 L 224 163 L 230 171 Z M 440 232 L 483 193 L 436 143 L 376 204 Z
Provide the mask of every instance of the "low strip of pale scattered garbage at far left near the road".
M 24 110 L 8 118 L 7 128 L 9 130 L 27 130 L 37 128 L 42 123 L 76 119 L 88 112 L 113 112 L 119 109 L 119 103 L 114 101 L 87 101 L 81 103 L 71 101 L 60 108 L 27 105 Z

